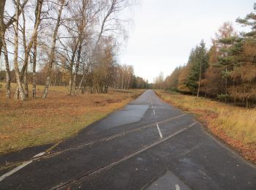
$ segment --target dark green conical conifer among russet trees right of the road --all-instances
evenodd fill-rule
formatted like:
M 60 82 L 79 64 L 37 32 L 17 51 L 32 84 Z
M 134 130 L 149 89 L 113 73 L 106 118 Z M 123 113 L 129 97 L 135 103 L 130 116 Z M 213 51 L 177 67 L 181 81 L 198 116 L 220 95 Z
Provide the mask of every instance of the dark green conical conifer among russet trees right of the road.
M 206 43 L 203 40 L 197 45 L 189 55 L 190 70 L 187 77 L 186 86 L 192 94 L 197 94 L 200 87 L 200 80 L 203 79 L 204 73 L 208 68 L 208 54 Z

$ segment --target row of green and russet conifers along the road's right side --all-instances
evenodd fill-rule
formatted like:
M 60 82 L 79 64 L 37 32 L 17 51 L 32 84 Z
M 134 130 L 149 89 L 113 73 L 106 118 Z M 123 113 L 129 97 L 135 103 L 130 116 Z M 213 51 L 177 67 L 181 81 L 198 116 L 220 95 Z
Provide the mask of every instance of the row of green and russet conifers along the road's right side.
M 256 4 L 254 12 L 237 23 L 251 31 L 238 34 L 232 23 L 224 23 L 209 50 L 200 42 L 191 50 L 185 66 L 178 66 L 158 86 L 184 94 L 208 96 L 224 102 L 253 106 L 256 103 Z

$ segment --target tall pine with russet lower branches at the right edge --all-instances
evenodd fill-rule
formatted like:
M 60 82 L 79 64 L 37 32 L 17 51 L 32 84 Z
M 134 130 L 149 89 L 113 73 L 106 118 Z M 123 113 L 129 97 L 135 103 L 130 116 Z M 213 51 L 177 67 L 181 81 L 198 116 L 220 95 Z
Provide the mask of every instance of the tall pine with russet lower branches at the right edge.
M 249 107 L 256 99 L 256 3 L 254 12 L 245 18 L 238 18 L 236 22 L 243 26 L 250 26 L 252 31 L 241 34 L 232 48 L 233 58 L 236 60 L 230 77 L 233 86 L 228 88 L 233 99 L 245 102 Z

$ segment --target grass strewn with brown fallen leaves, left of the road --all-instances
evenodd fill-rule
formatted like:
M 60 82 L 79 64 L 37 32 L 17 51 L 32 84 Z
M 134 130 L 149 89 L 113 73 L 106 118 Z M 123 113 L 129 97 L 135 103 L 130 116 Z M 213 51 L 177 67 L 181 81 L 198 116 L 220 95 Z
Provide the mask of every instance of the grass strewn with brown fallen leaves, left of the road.
M 67 88 L 51 87 L 42 99 L 42 86 L 37 86 L 37 99 L 25 102 L 5 99 L 0 88 L 0 154 L 26 147 L 59 142 L 77 134 L 80 129 L 120 109 L 143 90 L 111 91 L 108 94 L 68 96 Z M 29 86 L 31 88 L 31 86 Z M 15 84 L 12 84 L 15 89 Z M 12 96 L 13 96 L 12 91 Z M 30 94 L 31 97 L 31 94 Z

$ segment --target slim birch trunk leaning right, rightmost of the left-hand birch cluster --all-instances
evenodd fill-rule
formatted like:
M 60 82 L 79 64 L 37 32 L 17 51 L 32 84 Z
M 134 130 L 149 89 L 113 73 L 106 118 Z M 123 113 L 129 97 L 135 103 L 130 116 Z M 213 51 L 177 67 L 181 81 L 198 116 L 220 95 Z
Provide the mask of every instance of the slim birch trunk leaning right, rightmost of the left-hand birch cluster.
M 55 59 L 54 53 L 55 53 L 55 46 L 56 46 L 56 37 L 57 37 L 59 26 L 60 26 L 61 12 L 62 12 L 62 9 L 64 6 L 64 2 L 65 2 L 65 0 L 61 0 L 61 7 L 59 9 L 56 27 L 53 32 L 53 42 L 52 42 L 51 49 L 50 49 L 50 60 L 49 60 L 48 71 L 47 71 L 47 76 L 46 76 L 45 89 L 42 93 L 42 98 L 47 98 L 47 95 L 48 95 L 48 90 L 49 90 L 49 85 L 50 85 L 50 73 L 53 68 L 53 61 Z

